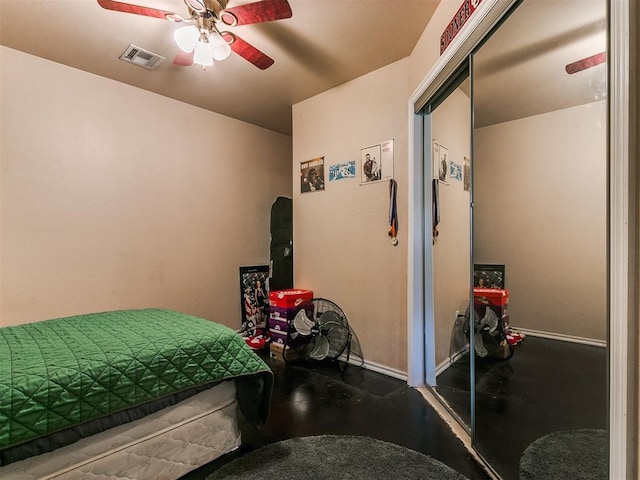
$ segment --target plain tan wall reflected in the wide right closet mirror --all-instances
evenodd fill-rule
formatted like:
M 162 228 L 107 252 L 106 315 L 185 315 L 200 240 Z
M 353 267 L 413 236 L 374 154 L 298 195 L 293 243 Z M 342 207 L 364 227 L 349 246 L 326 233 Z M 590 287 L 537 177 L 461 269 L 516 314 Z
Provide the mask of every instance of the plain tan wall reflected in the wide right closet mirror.
M 512 325 L 606 339 L 606 136 L 605 102 L 474 131 L 474 261 L 506 265 Z

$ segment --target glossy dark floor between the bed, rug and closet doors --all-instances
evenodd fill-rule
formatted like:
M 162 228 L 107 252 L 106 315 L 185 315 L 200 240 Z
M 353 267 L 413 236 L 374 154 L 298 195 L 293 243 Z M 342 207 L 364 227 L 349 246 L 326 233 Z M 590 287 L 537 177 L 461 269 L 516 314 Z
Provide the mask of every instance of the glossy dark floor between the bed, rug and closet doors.
M 359 367 L 341 372 L 331 363 L 285 364 L 266 353 L 262 356 L 275 376 L 266 426 L 258 431 L 241 421 L 239 451 L 182 480 L 204 479 L 227 461 L 268 443 L 323 434 L 377 438 L 430 455 L 470 480 L 489 478 L 450 427 L 406 382 Z

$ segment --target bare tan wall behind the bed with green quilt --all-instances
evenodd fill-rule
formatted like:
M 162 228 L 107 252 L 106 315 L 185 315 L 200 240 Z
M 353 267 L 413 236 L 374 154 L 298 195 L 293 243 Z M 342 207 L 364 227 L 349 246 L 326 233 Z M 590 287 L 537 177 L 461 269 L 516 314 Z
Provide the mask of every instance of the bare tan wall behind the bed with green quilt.
M 239 327 L 291 138 L 0 52 L 2 324 L 155 306 Z

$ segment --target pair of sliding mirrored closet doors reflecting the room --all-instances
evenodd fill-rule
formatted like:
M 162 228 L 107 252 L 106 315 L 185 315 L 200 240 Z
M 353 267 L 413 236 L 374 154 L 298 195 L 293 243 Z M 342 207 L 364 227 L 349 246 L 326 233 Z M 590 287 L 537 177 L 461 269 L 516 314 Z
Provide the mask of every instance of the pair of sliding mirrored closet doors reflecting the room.
M 518 2 L 465 62 L 469 78 L 459 69 L 425 110 L 434 390 L 504 479 L 550 436 L 606 445 L 606 10 Z M 483 285 L 490 272 L 499 282 Z M 504 358 L 478 333 L 496 319 L 510 333 Z M 604 450 L 589 455 L 606 465 Z

